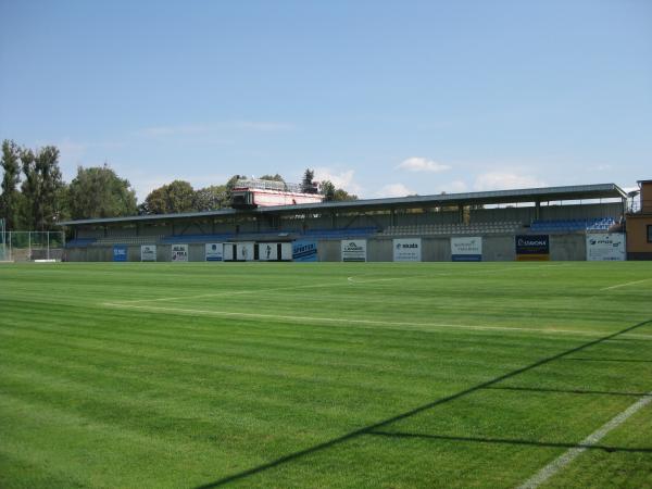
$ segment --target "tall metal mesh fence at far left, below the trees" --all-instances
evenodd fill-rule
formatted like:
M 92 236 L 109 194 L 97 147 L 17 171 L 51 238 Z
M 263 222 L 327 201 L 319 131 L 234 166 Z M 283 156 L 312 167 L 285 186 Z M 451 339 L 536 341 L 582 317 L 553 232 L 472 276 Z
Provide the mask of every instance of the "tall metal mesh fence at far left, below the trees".
M 65 247 L 63 231 L 0 230 L 0 261 L 61 261 Z

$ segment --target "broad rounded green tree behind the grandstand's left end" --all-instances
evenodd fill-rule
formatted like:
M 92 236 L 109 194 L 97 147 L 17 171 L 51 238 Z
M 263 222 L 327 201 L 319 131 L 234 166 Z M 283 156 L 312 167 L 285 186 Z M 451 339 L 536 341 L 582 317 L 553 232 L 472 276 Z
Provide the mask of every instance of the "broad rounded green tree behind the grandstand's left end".
M 136 191 L 106 164 L 77 168 L 68 187 L 71 217 L 120 217 L 138 212 Z

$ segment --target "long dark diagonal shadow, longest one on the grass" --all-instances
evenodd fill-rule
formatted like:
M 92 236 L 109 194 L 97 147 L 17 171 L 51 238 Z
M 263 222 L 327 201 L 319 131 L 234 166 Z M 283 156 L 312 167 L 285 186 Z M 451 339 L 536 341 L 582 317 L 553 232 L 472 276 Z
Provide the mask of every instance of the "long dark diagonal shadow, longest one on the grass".
M 417 408 L 414 408 L 414 409 L 412 409 L 410 411 L 405 411 L 404 413 L 397 414 L 394 416 L 388 417 L 386 419 L 379 421 L 379 422 L 371 424 L 368 426 L 364 426 L 364 427 L 355 429 L 353 431 L 349 431 L 348 434 L 344 434 L 344 435 L 342 435 L 340 437 L 333 438 L 330 440 L 324 441 L 322 443 L 314 444 L 314 446 L 309 447 L 309 448 L 303 449 L 303 450 L 299 450 L 299 451 L 296 451 L 296 452 L 292 452 L 292 453 L 288 453 L 287 455 L 284 455 L 284 456 L 280 456 L 278 459 L 272 460 L 272 461 L 266 462 L 264 464 L 260 464 L 260 465 L 258 465 L 255 467 L 248 468 L 247 471 L 242 471 L 242 472 L 239 472 L 239 473 L 236 473 L 236 474 L 231 474 L 229 476 L 223 477 L 223 478 L 214 480 L 212 482 L 208 482 L 208 484 L 203 484 L 201 486 L 197 486 L 196 489 L 211 489 L 211 488 L 226 486 L 227 484 L 235 482 L 236 480 L 241 480 L 241 479 L 244 479 L 247 477 L 251 477 L 251 476 L 253 476 L 255 474 L 260 474 L 260 473 L 263 473 L 263 472 L 268 471 L 271 468 L 275 468 L 275 467 L 278 467 L 280 465 L 285 465 L 285 464 L 287 464 L 289 462 L 293 462 L 293 461 L 296 461 L 298 459 L 302 459 L 302 457 L 304 457 L 306 455 L 311 455 L 313 453 L 321 452 L 323 450 L 333 448 L 335 446 L 338 446 L 338 444 L 341 444 L 343 442 L 350 441 L 350 440 L 352 440 L 354 438 L 358 438 L 360 436 L 369 435 L 369 434 L 372 434 L 372 431 L 378 431 L 378 428 L 383 428 L 383 427 L 385 427 L 387 425 L 390 425 L 392 423 L 396 423 L 396 422 L 399 422 L 399 421 L 412 417 L 415 414 L 423 413 L 425 411 L 431 410 L 432 408 L 446 404 L 446 403 L 454 401 L 456 399 L 464 398 L 464 397 L 466 397 L 466 396 L 468 396 L 468 394 L 471 394 L 473 392 L 476 392 L 476 391 L 478 391 L 480 389 L 486 389 L 486 388 L 488 388 L 490 386 L 493 386 L 494 384 L 501 383 L 501 381 L 506 380 L 509 378 L 512 378 L 512 377 L 515 377 L 517 375 L 521 375 L 521 374 L 523 374 L 525 372 L 529 372 L 529 371 L 531 371 L 534 368 L 540 367 L 541 365 L 546 365 L 546 364 L 548 364 L 550 362 L 554 362 L 555 360 L 560 360 L 560 359 L 563 359 L 564 356 L 567 356 L 567 355 L 577 353 L 579 351 L 586 350 L 587 348 L 594 347 L 595 344 L 600 344 L 600 343 L 602 343 L 604 341 L 609 341 L 611 339 L 617 338 L 620 335 L 625 335 L 627 333 L 631 333 L 635 329 L 638 329 L 638 328 L 640 328 L 642 326 L 645 326 L 648 324 L 652 324 L 652 319 L 643 321 L 641 323 L 635 324 L 635 325 L 629 326 L 629 327 L 627 327 L 625 329 L 622 329 L 619 331 L 612 333 L 611 335 L 604 336 L 602 338 L 598 338 L 598 339 L 588 341 L 586 343 L 582 343 L 582 344 L 580 344 L 578 347 L 575 347 L 575 348 L 572 348 L 569 350 L 563 351 L 563 352 L 557 353 L 555 355 L 538 360 L 538 361 L 536 361 L 534 363 L 530 363 L 529 365 L 523 366 L 521 368 L 516 368 L 515 371 L 512 371 L 512 372 L 509 372 L 506 374 L 503 374 L 503 375 L 500 375 L 498 377 L 494 377 L 491 380 L 487 380 L 485 383 L 478 384 L 476 386 L 473 386 L 473 387 L 471 387 L 468 389 L 462 390 L 462 391 L 460 391 L 457 393 L 454 393 L 452 396 L 448 396 L 446 398 L 440 398 L 440 399 L 437 399 L 437 400 L 435 400 L 432 402 L 428 402 L 426 404 L 422 404 L 422 405 L 419 405 Z

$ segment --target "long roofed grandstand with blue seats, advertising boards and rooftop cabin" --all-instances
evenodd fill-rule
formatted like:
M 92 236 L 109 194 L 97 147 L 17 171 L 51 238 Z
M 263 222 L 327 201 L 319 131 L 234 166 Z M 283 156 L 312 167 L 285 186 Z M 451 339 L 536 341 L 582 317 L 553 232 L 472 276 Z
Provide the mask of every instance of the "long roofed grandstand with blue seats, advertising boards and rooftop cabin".
M 243 181 L 231 209 L 62 222 L 65 260 L 626 259 L 631 196 L 615 184 L 337 202 L 289 185 Z

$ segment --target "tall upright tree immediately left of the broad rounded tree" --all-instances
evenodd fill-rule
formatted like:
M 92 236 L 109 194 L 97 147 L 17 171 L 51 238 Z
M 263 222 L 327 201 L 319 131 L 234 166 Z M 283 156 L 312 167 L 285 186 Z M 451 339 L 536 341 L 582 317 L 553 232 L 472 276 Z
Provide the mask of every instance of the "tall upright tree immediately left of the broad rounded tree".
M 65 209 L 65 185 L 59 170 L 59 150 L 46 146 L 34 152 L 21 151 L 25 179 L 21 189 L 25 198 L 25 224 L 34 229 L 48 230 Z

